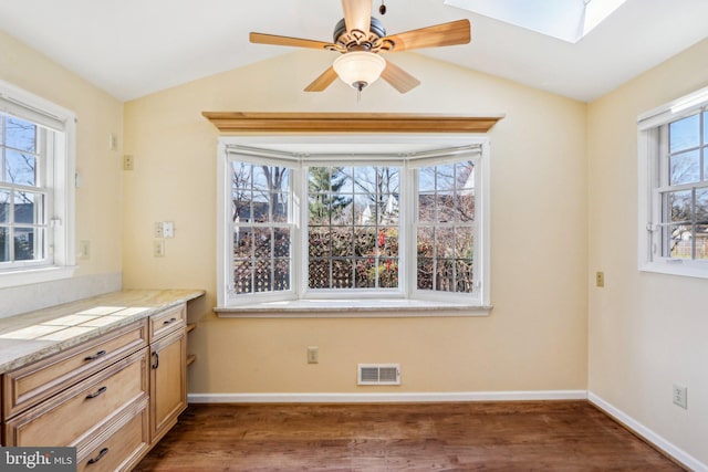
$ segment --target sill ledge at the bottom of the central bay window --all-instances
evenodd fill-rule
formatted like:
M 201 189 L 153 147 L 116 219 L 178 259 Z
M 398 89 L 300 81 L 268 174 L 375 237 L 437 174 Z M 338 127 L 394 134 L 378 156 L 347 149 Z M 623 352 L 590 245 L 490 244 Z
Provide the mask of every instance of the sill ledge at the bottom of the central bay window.
M 491 306 L 420 300 L 291 300 L 240 306 L 217 306 L 221 318 L 391 318 L 488 316 Z

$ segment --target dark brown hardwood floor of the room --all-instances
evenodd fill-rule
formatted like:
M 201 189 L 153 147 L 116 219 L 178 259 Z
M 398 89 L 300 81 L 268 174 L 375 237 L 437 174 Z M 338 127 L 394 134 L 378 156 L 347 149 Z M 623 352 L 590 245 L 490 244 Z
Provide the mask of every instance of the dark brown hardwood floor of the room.
M 586 401 L 191 405 L 135 471 L 680 471 Z

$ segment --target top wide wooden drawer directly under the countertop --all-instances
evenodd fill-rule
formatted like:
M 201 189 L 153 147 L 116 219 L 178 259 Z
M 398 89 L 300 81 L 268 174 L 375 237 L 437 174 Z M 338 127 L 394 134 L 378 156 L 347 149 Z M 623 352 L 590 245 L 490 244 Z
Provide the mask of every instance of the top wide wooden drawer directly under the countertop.
M 147 346 L 147 321 L 115 329 L 50 358 L 6 373 L 2 377 L 4 418 Z

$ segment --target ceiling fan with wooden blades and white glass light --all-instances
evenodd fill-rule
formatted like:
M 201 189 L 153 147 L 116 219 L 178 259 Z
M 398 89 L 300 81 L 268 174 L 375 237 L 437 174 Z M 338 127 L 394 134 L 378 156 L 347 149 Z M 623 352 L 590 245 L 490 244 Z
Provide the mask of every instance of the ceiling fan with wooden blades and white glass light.
M 336 23 L 331 43 L 264 33 L 250 33 L 250 41 L 339 52 L 341 55 L 332 66 L 308 85 L 305 92 L 322 92 L 340 77 L 360 93 L 379 76 L 400 93 L 409 92 L 420 84 L 416 77 L 384 60 L 379 53 L 470 42 L 469 20 L 386 35 L 381 20 L 372 17 L 372 0 L 342 0 L 342 9 L 344 19 Z M 385 12 L 383 4 L 379 11 Z

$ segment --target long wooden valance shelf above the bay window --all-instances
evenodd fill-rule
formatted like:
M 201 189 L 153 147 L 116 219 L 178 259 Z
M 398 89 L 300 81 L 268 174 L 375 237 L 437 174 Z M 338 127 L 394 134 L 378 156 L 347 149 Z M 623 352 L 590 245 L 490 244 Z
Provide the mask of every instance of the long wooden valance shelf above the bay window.
M 202 112 L 221 133 L 487 133 L 503 115 Z

